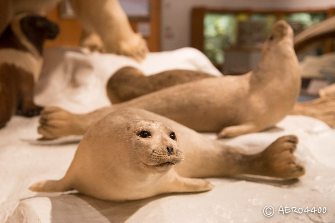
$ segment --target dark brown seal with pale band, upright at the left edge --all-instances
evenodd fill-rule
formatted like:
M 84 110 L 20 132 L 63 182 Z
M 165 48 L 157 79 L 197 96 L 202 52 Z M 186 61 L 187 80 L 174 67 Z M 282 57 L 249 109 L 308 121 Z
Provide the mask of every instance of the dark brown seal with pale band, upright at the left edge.
M 45 17 L 19 15 L 0 35 L 0 127 L 16 112 L 26 117 L 42 109 L 33 103 L 34 82 L 42 67 L 42 47 L 58 33 Z

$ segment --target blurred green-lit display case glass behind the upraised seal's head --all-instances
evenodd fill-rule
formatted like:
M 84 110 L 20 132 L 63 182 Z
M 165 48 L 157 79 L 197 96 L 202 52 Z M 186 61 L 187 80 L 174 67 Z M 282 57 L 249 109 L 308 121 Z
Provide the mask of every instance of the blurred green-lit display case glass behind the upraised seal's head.
M 313 12 L 282 13 L 294 34 L 327 18 Z M 269 35 L 276 16 L 274 13 L 206 13 L 204 16 L 204 53 L 213 64 L 224 63 L 224 50 L 231 46 L 259 46 Z

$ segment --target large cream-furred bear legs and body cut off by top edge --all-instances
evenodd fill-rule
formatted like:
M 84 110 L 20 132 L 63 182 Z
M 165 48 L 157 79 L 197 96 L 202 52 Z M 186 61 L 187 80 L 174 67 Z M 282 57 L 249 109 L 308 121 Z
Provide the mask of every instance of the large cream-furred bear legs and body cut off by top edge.
M 1 0 L 0 33 L 17 13 L 45 15 L 61 0 Z M 133 32 L 118 0 L 70 0 L 84 32 L 83 46 L 142 60 L 148 49 L 140 34 Z

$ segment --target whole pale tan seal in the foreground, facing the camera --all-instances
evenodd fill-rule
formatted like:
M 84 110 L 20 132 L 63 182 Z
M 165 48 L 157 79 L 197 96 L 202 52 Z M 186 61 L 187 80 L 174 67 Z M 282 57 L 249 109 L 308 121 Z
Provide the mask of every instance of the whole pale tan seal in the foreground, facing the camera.
M 295 136 L 283 136 L 263 152 L 247 155 L 165 117 L 127 108 L 108 114 L 86 132 L 61 180 L 29 189 L 76 189 L 103 200 L 134 200 L 213 188 L 192 178 L 245 173 L 293 179 L 304 174 L 292 154 L 296 143 Z

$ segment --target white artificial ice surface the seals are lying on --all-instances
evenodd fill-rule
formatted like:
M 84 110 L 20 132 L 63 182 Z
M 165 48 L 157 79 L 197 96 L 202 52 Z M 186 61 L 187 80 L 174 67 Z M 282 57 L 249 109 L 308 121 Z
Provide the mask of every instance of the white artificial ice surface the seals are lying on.
M 185 68 L 220 75 L 203 54 L 190 48 L 150 53 L 141 64 L 122 56 L 86 55 L 59 48 L 49 49 L 45 56 L 36 101 L 73 112 L 108 105 L 104 84 L 123 65 L 134 65 L 147 74 Z M 256 152 L 279 136 L 297 135 L 300 142 L 296 155 L 306 168 L 306 175 L 298 181 L 250 176 L 213 178 L 208 180 L 215 188 L 206 193 L 161 195 L 130 202 L 100 201 L 75 192 L 30 192 L 28 187 L 33 183 L 64 175 L 80 139 L 38 142 L 37 126 L 38 117 L 14 116 L 0 129 L 1 223 L 335 222 L 335 131 L 312 118 L 288 116 L 277 128 L 222 140 L 247 152 Z M 265 206 L 274 208 L 272 217 L 264 217 Z M 327 212 L 282 215 L 278 214 L 280 206 L 326 207 Z

